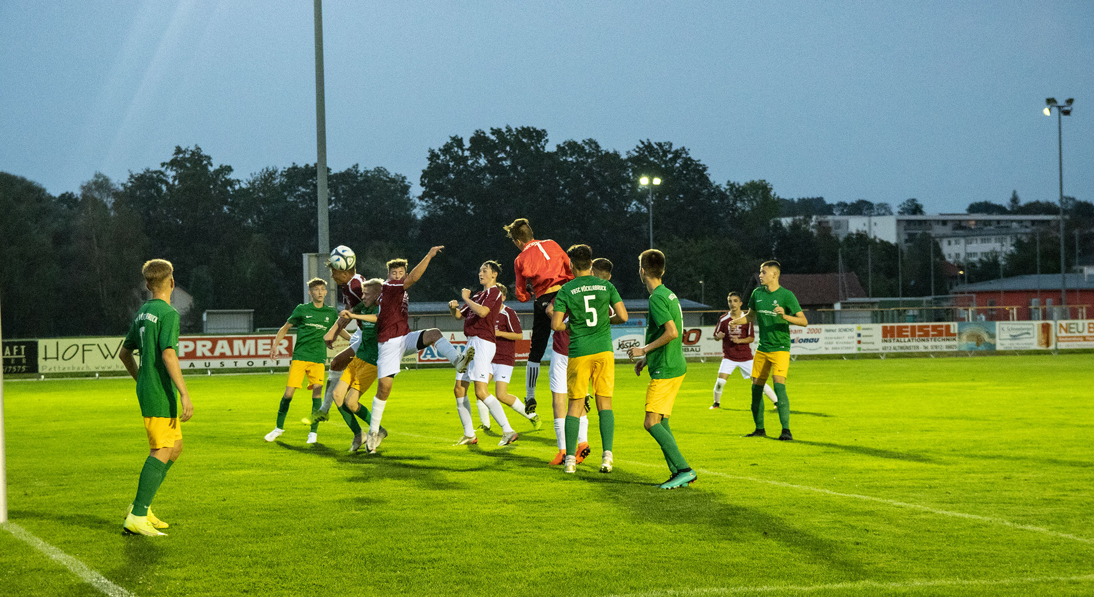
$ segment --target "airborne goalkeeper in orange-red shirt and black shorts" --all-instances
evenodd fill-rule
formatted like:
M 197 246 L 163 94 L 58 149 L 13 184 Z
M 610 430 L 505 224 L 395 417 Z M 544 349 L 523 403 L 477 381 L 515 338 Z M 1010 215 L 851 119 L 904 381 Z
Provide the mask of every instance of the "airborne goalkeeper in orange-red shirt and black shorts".
M 528 364 L 524 375 L 527 397 L 524 403 L 529 412 L 535 412 L 539 361 L 550 337 L 550 318 L 547 317 L 546 308 L 555 300 L 558 289 L 573 279 L 573 271 L 570 268 L 570 257 L 557 242 L 535 240 L 527 219 L 517 218 L 504 229 L 513 244 L 521 250 L 521 254 L 513 261 L 516 300 L 526 302 L 533 298 L 527 291 L 528 284 L 535 292 L 532 308 L 532 349 L 528 351 Z

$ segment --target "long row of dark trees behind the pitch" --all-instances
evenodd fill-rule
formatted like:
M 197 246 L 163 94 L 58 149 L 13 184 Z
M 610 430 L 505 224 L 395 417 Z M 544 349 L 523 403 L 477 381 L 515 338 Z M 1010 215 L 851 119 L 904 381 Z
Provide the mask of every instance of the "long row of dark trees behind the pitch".
M 352 248 L 366 276 L 383 276 L 389 259 L 414 264 L 443 244 L 412 298 L 449 300 L 475 286 L 485 260 L 500 262 L 500 279 L 512 284 L 517 250 L 502 226 L 526 217 L 537 238 L 563 248 L 586 243 L 612 260 L 613 283 L 624 297 L 640 298 L 637 256 L 649 246 L 651 193 L 637 182 L 643 175 L 663 181 L 652 186 L 654 245 L 668 257 L 666 282 L 682 297 L 722 306 L 730 290 L 755 285 L 768 259 L 787 273 L 830 273 L 842 262 L 864 287 L 872 282 L 874 296 L 930 292 L 934 241 L 926 236 L 898 267 L 892 243 L 862 233 L 837 240 L 804 218 L 788 226 L 777 219 L 892 214 L 886 204 L 782 198 L 761 180 L 715 182 L 687 148 L 672 142 L 644 140 L 625 152 L 594 139 L 550 147 L 547 131 L 534 127 L 476 130 L 430 149 L 419 196 L 405 175 L 384 168 L 328 171 L 330 242 Z M 160 168 L 124 181 L 95 173 L 79 192 L 56 196 L 0 172 L 4 336 L 123 333 L 141 301 L 140 265 L 151 257 L 172 261 L 177 284 L 194 297 L 184 331 L 199 331 L 206 309 L 254 309 L 257 326 L 280 325 L 302 300 L 301 254 L 317 245 L 316 187 L 314 164 L 270 167 L 241 179 L 197 146 L 176 147 Z M 1072 200 L 1070 210 L 1089 228 L 1094 210 L 1087 214 L 1087 206 Z M 897 209 L 922 213 L 917 199 Z M 1058 271 L 1052 242 L 1041 239 L 1043 272 Z M 1019 243 L 1022 259 L 1004 257 L 1008 275 L 1032 273 L 1025 271 L 1029 250 Z M 936 244 L 933 255 L 935 288 L 944 289 Z M 969 282 L 992 277 L 998 263 L 994 273 L 990 262 L 969 269 Z M 58 302 L 71 305 L 72 313 L 55 314 Z

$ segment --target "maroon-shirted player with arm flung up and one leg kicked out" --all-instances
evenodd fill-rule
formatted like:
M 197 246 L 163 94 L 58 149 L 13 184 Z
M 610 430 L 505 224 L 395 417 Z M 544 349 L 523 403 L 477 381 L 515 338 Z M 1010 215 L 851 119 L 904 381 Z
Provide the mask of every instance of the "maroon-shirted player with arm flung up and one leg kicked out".
M 364 445 L 370 452 L 375 451 L 384 438 L 380 433 L 380 423 L 384 416 L 387 399 L 392 395 L 392 387 L 395 383 L 395 376 L 399 372 L 403 355 L 426 347 L 422 332 L 411 332 L 407 322 L 410 299 L 406 291 L 421 278 L 429 267 L 429 262 L 443 249 L 444 246 L 431 248 L 409 273 L 407 273 L 407 260 L 397 259 L 387 262 L 387 280 L 381 287 L 380 313 L 376 320 L 376 342 L 380 345 L 376 357 L 376 395 L 372 399 L 372 421 L 369 423 L 369 434 L 364 438 Z M 437 341 L 437 344 L 438 353 L 447 358 L 459 372 L 466 371 L 467 365 L 475 357 L 472 348 L 461 357 L 458 351 L 447 341 L 443 343 Z

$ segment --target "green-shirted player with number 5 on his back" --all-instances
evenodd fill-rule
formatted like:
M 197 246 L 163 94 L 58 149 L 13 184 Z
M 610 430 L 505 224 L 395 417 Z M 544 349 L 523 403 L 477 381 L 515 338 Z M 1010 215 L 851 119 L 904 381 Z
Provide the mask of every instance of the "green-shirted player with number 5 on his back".
M 593 276 L 593 250 L 587 244 L 574 244 L 567 252 L 573 268 L 572 280 L 562 285 L 555 296 L 551 330 L 570 331 L 569 358 L 566 366 L 566 389 L 570 403 L 566 415 L 566 464 L 563 472 L 578 470 L 578 430 L 585 412 L 585 394 L 596 397 L 600 413 L 601 443 L 604 455 L 601 472 L 612 472 L 615 413 L 612 394 L 615 391 L 615 353 L 612 349 L 609 308 L 617 320 L 627 321 L 627 308 L 610 282 Z M 566 321 L 569 317 L 569 322 Z M 592 392 L 589 391 L 590 383 Z

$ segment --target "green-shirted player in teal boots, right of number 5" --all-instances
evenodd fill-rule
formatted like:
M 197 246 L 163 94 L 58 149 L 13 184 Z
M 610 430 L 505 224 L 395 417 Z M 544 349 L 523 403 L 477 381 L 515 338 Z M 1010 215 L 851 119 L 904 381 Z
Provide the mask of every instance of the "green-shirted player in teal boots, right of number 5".
M 665 274 L 665 255 L 656 249 L 642 251 L 638 257 L 638 275 L 650 291 L 650 321 L 645 326 L 645 346 L 627 351 L 635 363 L 635 374 L 642 375 L 642 368 L 650 368 L 650 386 L 645 389 L 645 430 L 661 446 L 665 463 L 672 474 L 659 485 L 663 490 L 674 490 L 695 482 L 695 471 L 676 447 L 676 438 L 668 428 L 668 416 L 673 414 L 676 393 L 687 374 L 680 331 L 684 329 L 684 312 L 676 294 L 661 283 Z

